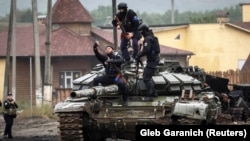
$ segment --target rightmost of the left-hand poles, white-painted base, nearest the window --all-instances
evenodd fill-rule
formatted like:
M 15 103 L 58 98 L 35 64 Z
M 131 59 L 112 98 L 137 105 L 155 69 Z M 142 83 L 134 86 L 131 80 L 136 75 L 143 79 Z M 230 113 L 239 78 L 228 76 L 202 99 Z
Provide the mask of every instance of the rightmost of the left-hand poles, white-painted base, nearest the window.
M 51 86 L 51 70 L 50 70 L 50 62 L 51 62 L 51 53 L 50 53 L 50 45 L 51 45 L 51 9 L 52 2 L 48 0 L 47 7 L 47 23 L 46 23 L 46 56 L 45 56 L 45 75 L 44 75 L 44 94 L 43 94 L 43 102 L 49 105 L 52 105 L 52 86 Z

